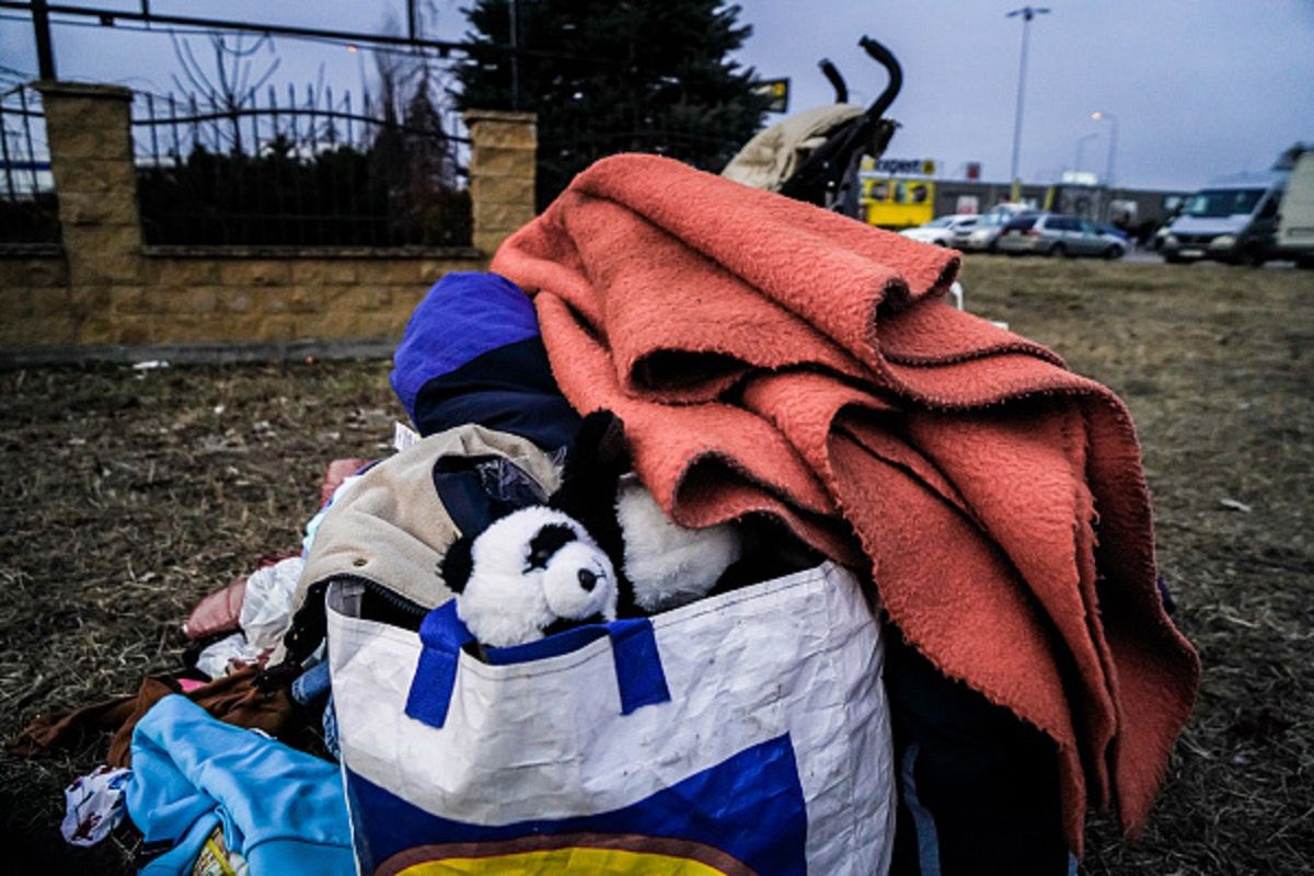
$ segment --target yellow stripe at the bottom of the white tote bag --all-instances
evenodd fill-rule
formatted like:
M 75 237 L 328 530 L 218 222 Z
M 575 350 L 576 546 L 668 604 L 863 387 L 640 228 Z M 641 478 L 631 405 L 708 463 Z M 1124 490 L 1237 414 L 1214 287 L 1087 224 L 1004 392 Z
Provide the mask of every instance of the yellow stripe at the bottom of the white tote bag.
M 490 858 L 449 858 L 413 864 L 398 876 L 723 876 L 702 862 L 622 848 L 551 848 Z

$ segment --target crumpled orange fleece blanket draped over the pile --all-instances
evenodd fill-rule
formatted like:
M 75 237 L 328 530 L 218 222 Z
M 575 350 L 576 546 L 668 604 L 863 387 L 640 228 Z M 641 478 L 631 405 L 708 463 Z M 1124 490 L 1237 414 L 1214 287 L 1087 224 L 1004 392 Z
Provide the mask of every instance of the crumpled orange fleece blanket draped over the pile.
M 1049 734 L 1064 825 L 1138 829 L 1200 666 L 1155 588 L 1126 407 L 942 301 L 958 255 L 657 156 L 498 251 L 581 411 L 681 523 L 766 511 L 869 566 L 932 662 Z

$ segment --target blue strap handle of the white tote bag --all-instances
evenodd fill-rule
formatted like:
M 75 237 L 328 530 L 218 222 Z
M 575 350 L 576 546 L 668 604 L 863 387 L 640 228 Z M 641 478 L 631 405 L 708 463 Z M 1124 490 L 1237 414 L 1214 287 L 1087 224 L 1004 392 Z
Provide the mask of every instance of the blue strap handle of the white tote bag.
M 657 637 L 646 617 L 586 624 L 526 645 L 490 647 L 486 654 L 494 666 L 530 663 L 568 654 L 604 636 L 611 640 L 620 713 L 629 714 L 644 705 L 669 701 L 670 690 L 657 651 Z M 448 602 L 424 617 L 419 638 L 422 650 L 406 697 L 406 716 L 442 728 L 456 688 L 461 649 L 474 637 L 456 616 L 456 603 Z

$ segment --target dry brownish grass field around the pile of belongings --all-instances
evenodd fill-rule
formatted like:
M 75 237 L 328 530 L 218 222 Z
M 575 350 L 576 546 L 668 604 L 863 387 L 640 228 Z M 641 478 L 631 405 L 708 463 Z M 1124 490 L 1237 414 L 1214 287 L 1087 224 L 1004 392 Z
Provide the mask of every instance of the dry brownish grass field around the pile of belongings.
M 1092 822 L 1085 873 L 1297 873 L 1314 855 L 1314 273 L 968 257 L 967 306 L 1130 405 L 1159 559 L 1205 683 L 1146 833 Z M 177 666 L 194 602 L 294 549 L 334 457 L 381 456 L 386 361 L 0 373 L 0 735 Z M 63 844 L 102 756 L 0 755 L 0 848 Z M 12 854 L 9 862 L 16 860 Z M 26 872 L 18 868 L 11 872 Z

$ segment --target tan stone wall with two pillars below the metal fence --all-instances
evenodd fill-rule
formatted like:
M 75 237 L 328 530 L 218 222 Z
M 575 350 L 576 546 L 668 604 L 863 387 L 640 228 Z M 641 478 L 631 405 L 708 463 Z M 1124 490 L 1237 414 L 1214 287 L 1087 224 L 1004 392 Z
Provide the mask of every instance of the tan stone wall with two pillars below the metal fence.
M 472 112 L 469 248 L 147 247 L 131 93 L 42 83 L 62 247 L 0 243 L 0 355 L 89 345 L 394 340 L 443 274 L 533 218 L 535 120 Z M 17 356 L 22 359 L 22 356 Z

